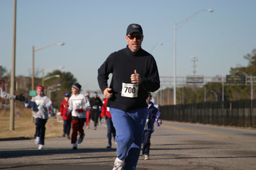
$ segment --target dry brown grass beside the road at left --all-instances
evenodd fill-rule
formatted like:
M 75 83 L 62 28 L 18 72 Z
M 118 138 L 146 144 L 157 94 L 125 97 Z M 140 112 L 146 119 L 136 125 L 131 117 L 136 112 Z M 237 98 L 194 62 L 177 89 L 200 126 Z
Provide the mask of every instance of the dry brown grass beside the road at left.
M 20 114 L 17 116 L 16 112 Z M 35 134 L 35 123 L 32 119 L 32 111 L 27 108 L 15 108 L 14 130 L 10 130 L 10 110 L 0 109 L 0 139 L 28 137 L 33 138 Z M 49 118 L 46 125 L 45 138 L 61 137 L 63 123 L 57 122 L 56 118 Z

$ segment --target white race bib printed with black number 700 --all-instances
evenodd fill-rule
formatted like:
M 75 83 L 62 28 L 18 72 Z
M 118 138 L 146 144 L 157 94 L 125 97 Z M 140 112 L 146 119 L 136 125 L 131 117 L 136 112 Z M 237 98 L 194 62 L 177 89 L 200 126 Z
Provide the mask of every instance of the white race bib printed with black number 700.
M 123 82 L 123 87 L 122 87 L 122 97 L 138 97 L 138 89 L 139 85 L 138 84 L 128 84 Z

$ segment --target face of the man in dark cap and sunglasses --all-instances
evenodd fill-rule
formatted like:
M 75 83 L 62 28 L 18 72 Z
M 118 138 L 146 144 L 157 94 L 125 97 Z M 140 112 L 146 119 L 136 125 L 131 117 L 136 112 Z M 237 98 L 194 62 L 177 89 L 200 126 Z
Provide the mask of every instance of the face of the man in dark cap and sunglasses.
M 143 35 L 140 36 L 139 33 L 132 33 L 131 35 L 126 35 L 125 38 L 128 43 L 128 47 L 132 52 L 136 52 L 140 49 L 143 41 Z

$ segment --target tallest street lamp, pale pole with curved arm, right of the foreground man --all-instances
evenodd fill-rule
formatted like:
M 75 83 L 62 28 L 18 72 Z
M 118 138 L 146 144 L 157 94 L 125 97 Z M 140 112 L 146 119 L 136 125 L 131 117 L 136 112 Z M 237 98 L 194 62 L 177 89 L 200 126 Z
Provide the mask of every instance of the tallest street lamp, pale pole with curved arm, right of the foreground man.
M 183 26 L 188 20 L 193 18 L 195 15 L 197 15 L 200 12 L 213 12 L 212 9 L 207 10 L 199 10 L 198 12 L 193 13 L 192 15 L 189 15 L 186 19 L 180 20 L 180 22 L 177 22 L 174 24 L 174 57 L 173 57 L 173 104 L 176 105 L 176 31 L 179 29 L 179 27 Z

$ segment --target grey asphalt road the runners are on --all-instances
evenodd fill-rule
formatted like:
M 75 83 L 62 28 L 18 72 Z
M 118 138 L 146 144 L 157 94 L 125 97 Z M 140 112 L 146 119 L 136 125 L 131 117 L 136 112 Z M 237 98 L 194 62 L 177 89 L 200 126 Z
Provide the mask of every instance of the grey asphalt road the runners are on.
M 33 139 L 1 139 L 0 169 L 112 169 L 116 146 L 106 149 L 106 126 L 85 132 L 78 150 L 66 138 L 45 139 L 44 150 Z M 136 169 L 256 169 L 256 131 L 163 121 L 150 159 L 141 155 Z

